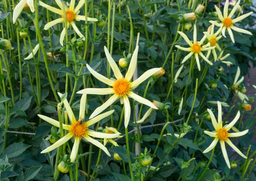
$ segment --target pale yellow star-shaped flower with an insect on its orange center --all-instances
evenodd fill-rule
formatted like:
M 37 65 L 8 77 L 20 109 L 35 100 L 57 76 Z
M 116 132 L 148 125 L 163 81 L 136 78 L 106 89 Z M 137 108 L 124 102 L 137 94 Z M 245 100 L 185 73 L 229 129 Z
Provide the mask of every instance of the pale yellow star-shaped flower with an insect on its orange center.
M 60 97 L 62 96 L 62 94 L 60 94 L 60 93 L 58 93 L 58 94 Z M 70 154 L 71 162 L 74 162 L 76 159 L 78 147 L 79 147 L 79 143 L 80 143 L 81 139 L 101 148 L 108 156 L 110 156 L 110 153 L 108 152 L 107 148 L 102 143 L 98 142 L 97 140 L 92 139 L 91 137 L 101 138 L 101 139 L 105 139 L 105 138 L 112 139 L 112 138 L 118 138 L 120 133 L 107 134 L 107 133 L 102 133 L 102 132 L 96 132 L 94 130 L 91 130 L 89 127 L 91 125 L 99 122 L 99 120 L 112 114 L 114 112 L 114 110 L 100 114 L 90 120 L 87 120 L 87 121 L 84 120 L 84 112 L 86 111 L 86 94 L 84 94 L 84 95 L 82 95 L 81 101 L 80 101 L 79 119 L 76 120 L 74 113 L 73 113 L 67 99 L 64 99 L 63 103 L 66 108 L 66 112 L 67 112 L 67 115 L 68 115 L 71 125 L 62 124 L 62 127 L 63 127 L 63 129 L 65 129 L 69 132 L 64 137 L 62 137 L 60 140 L 56 141 L 51 146 L 42 150 L 41 153 L 50 152 L 51 150 L 66 143 L 68 140 L 75 138 L 72 152 Z M 38 116 L 41 119 L 44 119 L 46 122 L 52 124 L 53 126 L 60 128 L 60 122 L 58 122 L 57 120 L 52 119 L 47 116 L 44 116 L 44 115 L 41 115 L 41 114 L 38 114 Z

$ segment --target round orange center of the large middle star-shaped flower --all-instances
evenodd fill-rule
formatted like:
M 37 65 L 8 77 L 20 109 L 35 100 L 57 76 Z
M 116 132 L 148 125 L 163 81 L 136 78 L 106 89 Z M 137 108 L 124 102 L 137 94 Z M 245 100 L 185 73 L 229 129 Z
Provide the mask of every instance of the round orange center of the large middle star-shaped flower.
M 130 88 L 130 82 L 126 79 L 118 79 L 113 85 L 115 94 L 120 97 L 126 95 L 130 91 Z

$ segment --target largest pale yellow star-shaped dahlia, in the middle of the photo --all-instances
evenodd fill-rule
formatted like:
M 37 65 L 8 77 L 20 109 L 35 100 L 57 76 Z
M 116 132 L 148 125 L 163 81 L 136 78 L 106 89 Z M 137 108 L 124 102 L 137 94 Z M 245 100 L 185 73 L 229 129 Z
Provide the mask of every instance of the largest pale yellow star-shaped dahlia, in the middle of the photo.
M 113 104 L 116 100 L 120 99 L 120 102 L 124 104 L 124 126 L 125 128 L 127 128 L 130 121 L 130 117 L 131 117 L 131 105 L 129 102 L 129 97 L 140 103 L 148 105 L 151 108 L 158 109 L 157 107 L 155 107 L 155 105 L 151 101 L 143 97 L 140 97 L 139 95 L 135 94 L 132 91 L 139 84 L 141 84 L 146 79 L 151 77 L 154 73 L 161 71 L 162 69 L 162 68 L 152 68 L 144 72 L 138 79 L 131 81 L 137 66 L 138 49 L 139 47 L 136 46 L 132 55 L 129 68 L 125 74 L 125 77 L 123 77 L 116 62 L 111 57 L 107 48 L 104 47 L 104 51 L 107 56 L 107 61 L 111 69 L 113 70 L 113 74 L 115 75 L 116 80 L 108 79 L 105 76 L 102 76 L 102 74 L 99 74 L 98 72 L 93 70 L 88 64 L 86 65 L 88 70 L 91 72 L 91 74 L 93 74 L 95 78 L 97 78 L 99 81 L 111 87 L 110 88 L 85 88 L 85 89 L 79 90 L 77 93 L 78 94 L 96 94 L 96 95 L 113 94 L 106 102 L 104 102 L 101 106 L 99 106 L 97 109 L 94 110 L 90 118 L 98 115 L 99 113 L 104 111 L 106 108 L 108 108 L 111 104 Z

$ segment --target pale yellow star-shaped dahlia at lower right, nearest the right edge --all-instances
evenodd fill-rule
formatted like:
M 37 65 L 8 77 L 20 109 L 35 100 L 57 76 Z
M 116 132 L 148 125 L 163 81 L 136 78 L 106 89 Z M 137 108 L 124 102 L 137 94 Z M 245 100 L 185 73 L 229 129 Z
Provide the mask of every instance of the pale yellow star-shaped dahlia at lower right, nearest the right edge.
M 245 131 L 241 131 L 241 132 L 234 132 L 234 133 L 230 133 L 228 132 L 237 122 L 237 120 L 240 117 L 240 112 L 238 111 L 235 118 L 232 120 L 232 122 L 230 122 L 228 125 L 222 126 L 222 109 L 221 109 L 221 103 L 218 101 L 218 122 L 215 118 L 214 113 L 212 113 L 212 111 L 210 109 L 207 109 L 210 118 L 211 118 L 211 123 L 212 126 L 214 126 L 214 131 L 204 131 L 205 134 L 209 135 L 210 137 L 214 137 L 214 141 L 212 141 L 212 143 L 204 150 L 203 153 L 207 153 L 210 150 L 212 150 L 216 144 L 218 142 L 220 142 L 220 146 L 221 146 L 221 151 L 224 157 L 224 160 L 227 164 L 227 167 L 230 168 L 230 161 L 229 161 L 229 157 L 227 156 L 227 152 L 226 152 L 226 148 L 225 148 L 225 143 L 227 143 L 228 145 L 230 145 L 235 151 L 236 153 L 238 153 L 241 157 L 243 158 L 247 158 L 243 153 L 240 152 L 240 150 L 230 141 L 229 138 L 232 137 L 241 137 L 243 135 L 245 135 L 248 132 L 248 129 Z

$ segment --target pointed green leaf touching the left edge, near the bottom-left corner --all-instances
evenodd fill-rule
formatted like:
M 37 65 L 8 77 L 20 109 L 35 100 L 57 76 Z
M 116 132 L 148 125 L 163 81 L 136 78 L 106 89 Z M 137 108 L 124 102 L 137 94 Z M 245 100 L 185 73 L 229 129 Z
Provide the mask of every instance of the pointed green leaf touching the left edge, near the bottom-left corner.
M 27 145 L 27 144 L 24 144 L 24 143 L 21 143 L 21 142 L 20 143 L 13 143 L 5 149 L 2 156 L 6 155 L 8 158 L 13 158 L 13 157 L 19 156 L 30 146 L 31 145 Z

